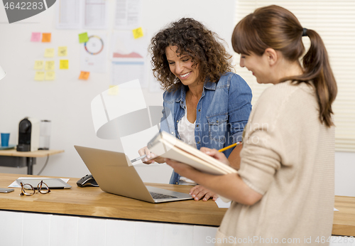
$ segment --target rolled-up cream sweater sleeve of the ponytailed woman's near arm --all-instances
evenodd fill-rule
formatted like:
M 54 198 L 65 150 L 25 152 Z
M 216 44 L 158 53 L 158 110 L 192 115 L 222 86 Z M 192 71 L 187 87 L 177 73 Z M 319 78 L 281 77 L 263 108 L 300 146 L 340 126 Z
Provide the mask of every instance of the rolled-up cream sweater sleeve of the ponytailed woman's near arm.
M 296 90 L 296 87 L 290 88 Z M 254 105 L 246 125 L 238 173 L 244 183 L 261 195 L 275 180 L 275 173 L 288 152 L 285 149 L 293 143 L 289 140 L 296 137 L 291 131 L 295 128 L 295 119 L 285 115 L 285 112 L 295 112 L 288 103 L 288 95 L 290 92 L 278 90 L 275 85 L 266 89 Z

